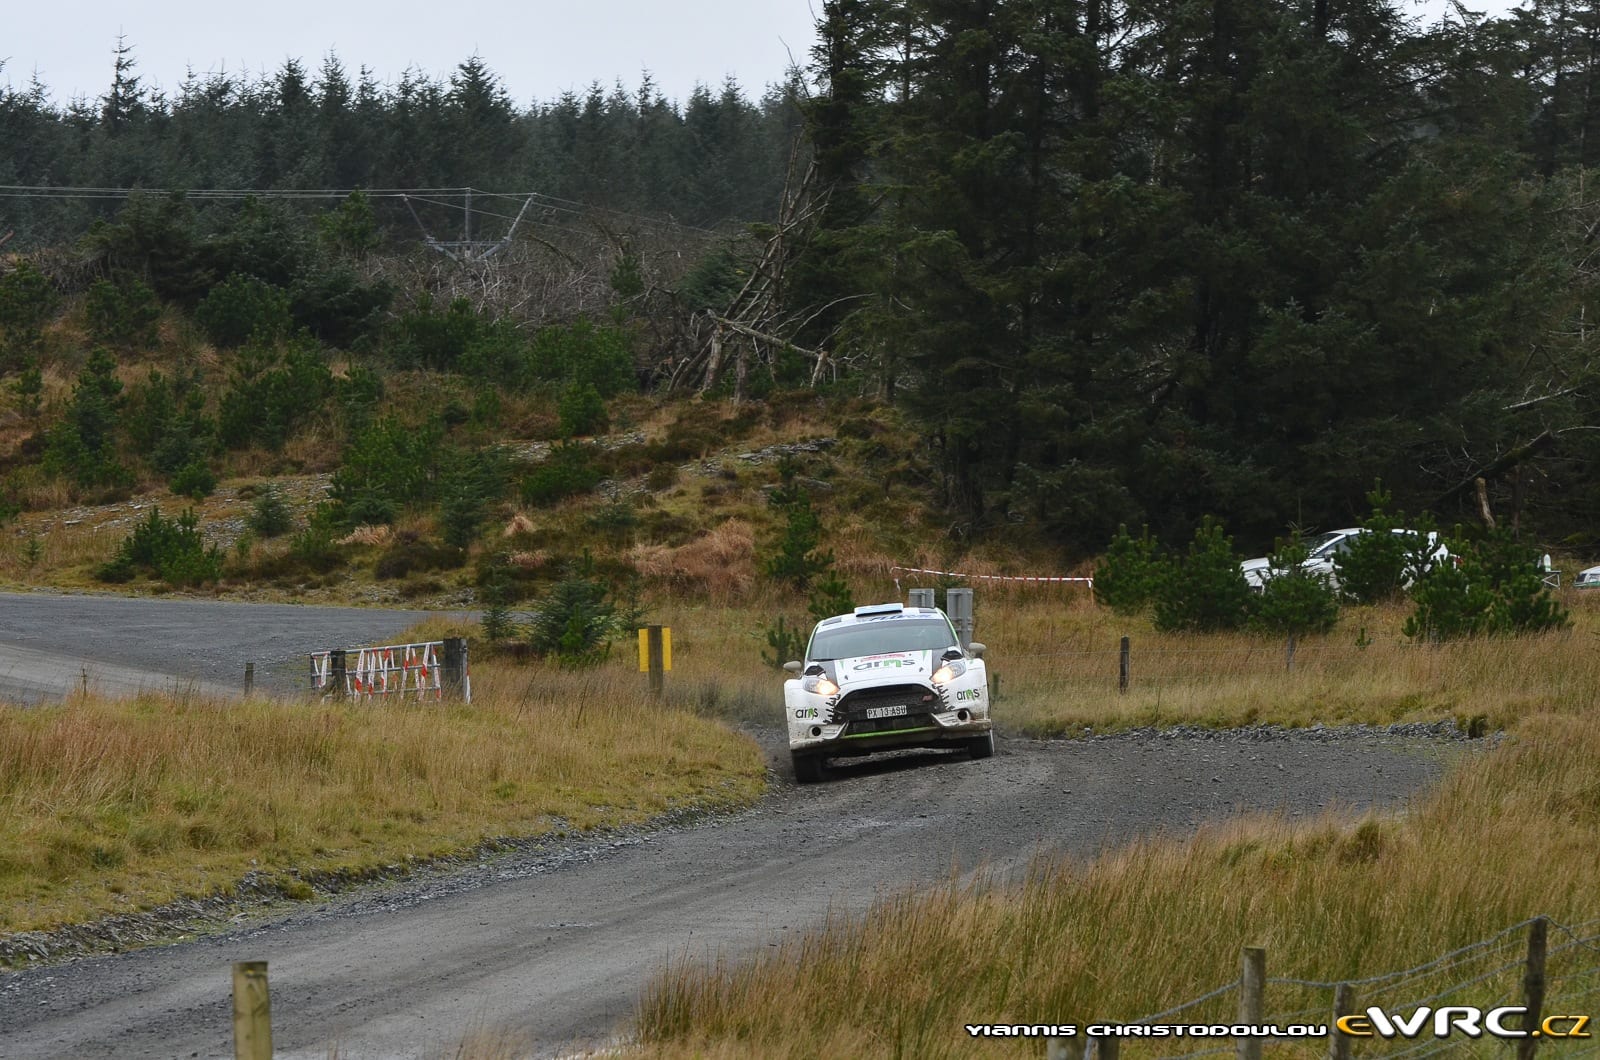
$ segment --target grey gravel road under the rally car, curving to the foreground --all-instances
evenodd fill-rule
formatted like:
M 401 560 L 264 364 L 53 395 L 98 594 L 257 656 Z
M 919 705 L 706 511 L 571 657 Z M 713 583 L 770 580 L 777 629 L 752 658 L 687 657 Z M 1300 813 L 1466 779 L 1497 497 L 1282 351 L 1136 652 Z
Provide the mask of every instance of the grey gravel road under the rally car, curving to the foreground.
M 776 725 L 774 725 L 776 729 Z M 778 762 L 778 737 L 762 733 Z M 1088 855 L 1246 810 L 1390 805 L 1459 745 L 1411 732 L 1002 740 L 904 753 L 752 810 L 573 841 L 368 889 L 286 919 L 0 974 L 0 1057 L 229 1057 L 229 966 L 270 962 L 278 1057 L 453 1055 L 469 1026 L 557 1055 L 602 1042 L 669 958 L 739 956 L 877 895 L 1043 850 Z M 954 1028 L 952 1028 L 954 1031 Z

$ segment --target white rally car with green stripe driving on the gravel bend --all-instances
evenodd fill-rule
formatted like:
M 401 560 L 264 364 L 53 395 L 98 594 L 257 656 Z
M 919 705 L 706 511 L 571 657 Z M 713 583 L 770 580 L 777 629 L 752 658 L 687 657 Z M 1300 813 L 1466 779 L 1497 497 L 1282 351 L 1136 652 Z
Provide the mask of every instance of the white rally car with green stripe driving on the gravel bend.
M 816 624 L 784 682 L 795 778 L 822 778 L 829 757 L 893 748 L 995 751 L 984 645 L 962 648 L 933 607 L 875 604 Z

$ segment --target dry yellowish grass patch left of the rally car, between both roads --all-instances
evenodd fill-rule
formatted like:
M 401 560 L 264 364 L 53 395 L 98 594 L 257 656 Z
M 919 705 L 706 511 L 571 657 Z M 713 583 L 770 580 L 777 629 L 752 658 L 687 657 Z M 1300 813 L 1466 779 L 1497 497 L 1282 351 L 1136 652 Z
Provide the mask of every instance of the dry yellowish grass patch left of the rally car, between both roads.
M 747 738 L 648 703 L 621 665 L 475 671 L 472 706 L 0 711 L 0 932 L 226 890 L 251 869 L 358 873 L 762 786 Z

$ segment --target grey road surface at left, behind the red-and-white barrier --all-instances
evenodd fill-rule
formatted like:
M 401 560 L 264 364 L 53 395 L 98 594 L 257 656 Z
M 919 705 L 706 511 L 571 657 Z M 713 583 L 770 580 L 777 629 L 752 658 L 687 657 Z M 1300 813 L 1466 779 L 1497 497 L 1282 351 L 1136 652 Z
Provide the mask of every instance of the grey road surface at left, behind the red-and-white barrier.
M 427 612 L 107 594 L 0 592 L 0 703 L 90 690 L 194 687 L 238 695 L 306 687 L 310 652 L 382 644 Z

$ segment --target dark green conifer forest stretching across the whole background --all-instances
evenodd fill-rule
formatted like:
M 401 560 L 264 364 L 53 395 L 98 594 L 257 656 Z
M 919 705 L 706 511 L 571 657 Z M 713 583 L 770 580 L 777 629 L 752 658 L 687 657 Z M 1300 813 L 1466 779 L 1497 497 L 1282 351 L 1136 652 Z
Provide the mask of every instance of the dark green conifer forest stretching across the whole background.
M 155 91 L 128 40 L 93 99 L 0 70 L 0 387 L 38 434 L 0 501 L 216 468 L 315 400 L 349 464 L 362 394 L 434 371 L 890 404 L 960 541 L 1082 557 L 1216 516 L 1267 546 L 1378 482 L 1600 538 L 1600 3 L 818 16 L 784 80 L 686 99 L 333 54 Z M 221 368 L 178 357 L 118 421 L 115 365 L 173 319 Z M 40 407 L 51 367 L 75 397 Z

